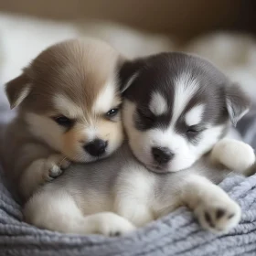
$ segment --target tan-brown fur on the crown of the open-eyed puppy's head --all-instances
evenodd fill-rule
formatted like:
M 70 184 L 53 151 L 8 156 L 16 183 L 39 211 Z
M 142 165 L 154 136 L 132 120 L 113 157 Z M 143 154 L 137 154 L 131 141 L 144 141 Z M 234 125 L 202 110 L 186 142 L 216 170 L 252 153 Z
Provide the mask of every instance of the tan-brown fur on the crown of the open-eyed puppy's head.
M 87 111 L 106 83 L 115 80 L 118 61 L 118 53 L 103 42 L 70 40 L 43 51 L 24 69 L 24 74 L 12 82 L 20 86 L 32 82 L 24 109 L 33 105 L 35 112 L 52 111 L 51 98 L 61 94 Z M 14 95 L 15 91 L 8 88 L 7 95 Z M 42 101 L 47 104 L 41 104 Z

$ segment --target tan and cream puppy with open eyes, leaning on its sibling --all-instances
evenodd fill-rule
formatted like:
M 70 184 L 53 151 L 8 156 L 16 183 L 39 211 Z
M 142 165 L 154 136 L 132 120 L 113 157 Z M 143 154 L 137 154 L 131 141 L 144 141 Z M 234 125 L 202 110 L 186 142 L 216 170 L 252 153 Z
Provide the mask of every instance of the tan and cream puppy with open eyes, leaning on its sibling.
M 16 118 L 5 133 L 5 170 L 25 199 L 69 161 L 111 155 L 123 142 L 117 69 L 109 45 L 73 39 L 43 51 L 6 84 Z

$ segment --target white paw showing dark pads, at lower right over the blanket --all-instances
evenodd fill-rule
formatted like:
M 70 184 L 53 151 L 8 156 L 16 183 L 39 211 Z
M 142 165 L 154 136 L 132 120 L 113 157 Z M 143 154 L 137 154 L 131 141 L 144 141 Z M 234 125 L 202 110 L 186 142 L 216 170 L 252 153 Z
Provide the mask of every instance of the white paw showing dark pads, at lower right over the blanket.
M 195 215 L 199 224 L 214 233 L 227 233 L 240 222 L 240 206 L 231 198 L 215 199 L 198 204 Z

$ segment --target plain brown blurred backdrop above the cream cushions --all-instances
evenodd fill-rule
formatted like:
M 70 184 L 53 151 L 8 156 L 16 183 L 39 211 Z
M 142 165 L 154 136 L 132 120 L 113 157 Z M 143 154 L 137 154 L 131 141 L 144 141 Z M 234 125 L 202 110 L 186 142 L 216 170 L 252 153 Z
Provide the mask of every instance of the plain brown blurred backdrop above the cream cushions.
M 58 20 L 97 18 L 177 37 L 212 29 L 255 32 L 255 1 L 247 0 L 1 0 L 0 10 Z

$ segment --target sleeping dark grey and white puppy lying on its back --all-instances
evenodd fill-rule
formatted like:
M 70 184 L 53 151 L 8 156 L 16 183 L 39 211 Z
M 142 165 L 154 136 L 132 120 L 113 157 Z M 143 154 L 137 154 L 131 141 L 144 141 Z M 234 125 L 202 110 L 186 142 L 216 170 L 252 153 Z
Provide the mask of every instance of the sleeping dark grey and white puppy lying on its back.
M 207 60 L 182 53 L 128 61 L 120 80 L 128 142 L 40 188 L 24 208 L 27 222 L 112 236 L 187 205 L 205 229 L 236 226 L 239 205 L 214 183 L 229 174 L 223 165 L 245 172 L 255 161 L 249 145 L 220 140 L 247 112 L 246 95 Z

